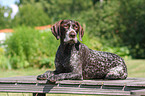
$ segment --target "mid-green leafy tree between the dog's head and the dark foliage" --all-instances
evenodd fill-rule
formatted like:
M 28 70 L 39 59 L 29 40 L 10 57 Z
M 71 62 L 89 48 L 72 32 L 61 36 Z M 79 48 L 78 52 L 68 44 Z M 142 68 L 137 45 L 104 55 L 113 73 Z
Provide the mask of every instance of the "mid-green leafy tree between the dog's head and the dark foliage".
M 103 45 L 116 47 L 120 46 L 120 37 L 118 34 L 118 10 L 119 1 L 98 2 L 91 11 L 83 15 L 85 18 L 87 31 L 91 36 L 100 38 Z M 120 31 L 120 30 L 119 30 Z

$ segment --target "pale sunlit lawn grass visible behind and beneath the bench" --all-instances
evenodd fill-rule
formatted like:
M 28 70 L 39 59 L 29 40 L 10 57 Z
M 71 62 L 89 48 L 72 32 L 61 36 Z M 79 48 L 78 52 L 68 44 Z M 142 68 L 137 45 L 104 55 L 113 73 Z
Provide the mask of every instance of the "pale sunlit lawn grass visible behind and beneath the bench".
M 128 68 L 128 77 L 145 78 L 145 70 L 144 70 L 145 59 L 125 60 L 125 62 Z M 39 75 L 39 74 L 44 73 L 46 70 L 54 70 L 54 69 L 27 68 L 27 69 L 17 69 L 17 70 L 0 70 L 0 77 Z M 24 93 L 0 93 L 0 96 L 32 96 L 32 94 L 30 93 L 25 93 L 25 94 Z M 83 96 L 83 95 L 49 94 L 49 96 Z

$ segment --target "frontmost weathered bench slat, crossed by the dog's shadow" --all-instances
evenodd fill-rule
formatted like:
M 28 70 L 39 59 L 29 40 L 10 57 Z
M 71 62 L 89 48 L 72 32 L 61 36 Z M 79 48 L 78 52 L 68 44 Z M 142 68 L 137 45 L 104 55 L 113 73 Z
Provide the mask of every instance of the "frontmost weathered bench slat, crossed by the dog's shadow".
M 57 87 L 57 86 L 11 86 L 3 87 L 0 86 L 1 92 L 39 92 L 39 93 L 76 93 L 76 94 L 110 94 L 110 95 L 129 95 L 130 92 L 125 92 L 121 90 L 104 90 L 92 88 L 79 88 L 79 87 Z

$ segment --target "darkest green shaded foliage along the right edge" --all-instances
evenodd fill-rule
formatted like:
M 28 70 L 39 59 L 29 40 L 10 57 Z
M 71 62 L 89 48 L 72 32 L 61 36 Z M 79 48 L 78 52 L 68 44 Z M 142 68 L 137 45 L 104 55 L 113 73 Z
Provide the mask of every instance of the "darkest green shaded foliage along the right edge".
M 133 58 L 145 58 L 144 4 L 144 0 L 131 0 L 129 2 L 122 0 L 121 10 L 119 10 L 120 23 L 124 28 L 120 32 L 120 37 L 123 37 L 123 44 L 128 46 Z

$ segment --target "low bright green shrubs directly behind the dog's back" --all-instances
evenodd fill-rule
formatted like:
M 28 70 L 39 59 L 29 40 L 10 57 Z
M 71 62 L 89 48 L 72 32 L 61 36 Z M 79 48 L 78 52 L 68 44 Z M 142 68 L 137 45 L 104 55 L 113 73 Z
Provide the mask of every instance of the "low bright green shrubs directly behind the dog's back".
M 82 43 L 84 43 L 90 49 L 93 49 L 93 50 L 115 53 L 125 59 L 131 58 L 128 47 L 111 47 L 108 45 L 103 45 L 100 42 L 99 38 L 89 37 L 89 35 L 87 33 L 84 35 Z

